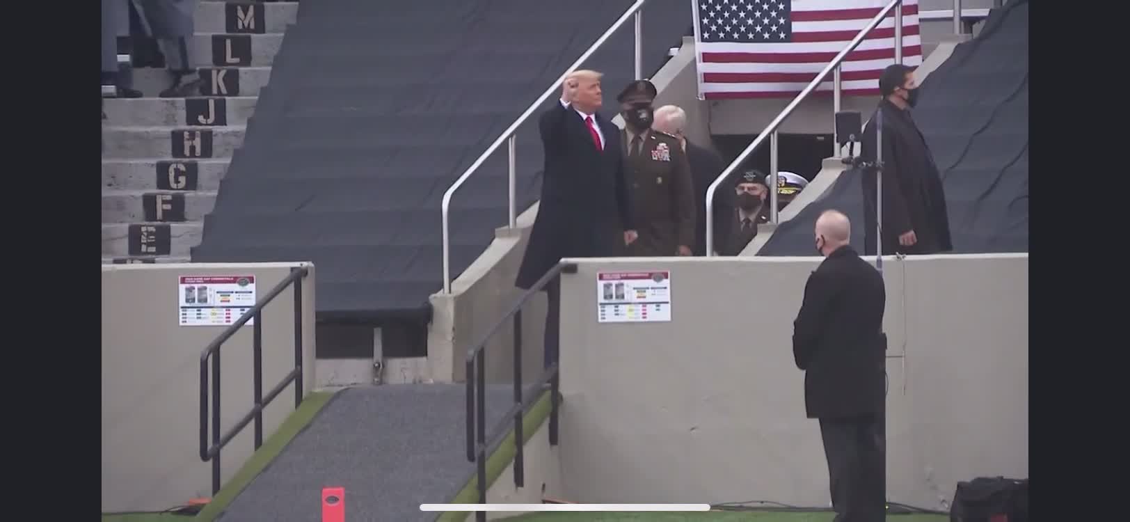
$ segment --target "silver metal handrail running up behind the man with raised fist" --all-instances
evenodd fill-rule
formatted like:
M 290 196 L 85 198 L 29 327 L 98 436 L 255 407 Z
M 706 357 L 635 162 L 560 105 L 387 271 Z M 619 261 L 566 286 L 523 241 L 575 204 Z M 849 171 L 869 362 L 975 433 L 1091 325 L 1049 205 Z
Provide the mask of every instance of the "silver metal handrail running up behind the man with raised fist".
M 541 96 L 538 96 L 538 99 L 536 99 L 532 104 L 530 104 L 530 106 L 527 107 L 524 112 L 522 112 L 522 115 L 518 116 L 518 120 L 514 120 L 514 122 L 511 123 L 510 127 L 507 127 L 506 130 L 503 131 L 503 133 L 498 136 L 498 138 L 493 143 L 490 143 L 490 147 L 487 147 L 486 151 L 484 151 L 478 157 L 478 159 L 476 159 L 475 163 L 471 164 L 471 166 L 467 167 L 467 171 L 463 171 L 463 174 L 460 175 L 459 179 L 455 180 L 455 182 L 452 183 L 450 188 L 447 188 L 447 191 L 443 193 L 442 211 L 443 211 L 443 293 L 444 294 L 451 294 L 451 226 L 447 220 L 450 214 L 449 210 L 451 207 L 451 195 L 454 194 L 455 190 L 458 190 L 463 184 L 463 182 L 466 182 L 467 179 L 471 176 L 471 174 L 475 174 L 475 171 L 477 171 L 487 160 L 487 158 L 490 157 L 490 155 L 498 149 L 503 140 L 508 140 L 510 141 L 510 143 L 507 143 L 510 153 L 510 177 L 508 177 L 510 225 L 508 226 L 510 228 L 514 228 L 518 221 L 518 216 L 515 214 L 515 208 L 514 208 L 515 206 L 514 171 L 516 168 L 516 162 L 514 160 L 515 156 L 514 133 L 518 132 L 518 128 L 521 127 L 522 123 L 525 123 L 525 120 L 528 120 L 530 115 L 533 114 L 533 111 L 536 111 L 539 106 L 541 106 L 541 104 L 549 98 L 549 95 L 554 94 L 554 92 L 557 90 L 557 87 L 560 86 L 563 81 L 565 81 L 565 78 L 567 78 L 570 75 L 573 73 L 573 71 L 575 71 L 579 67 L 581 67 L 581 63 L 584 63 L 584 61 L 588 60 L 589 56 L 592 55 L 592 53 L 597 52 L 597 49 L 603 45 L 603 43 L 609 37 L 612 36 L 612 33 L 615 33 L 616 29 L 619 29 L 620 26 L 623 26 L 624 23 L 627 21 L 628 17 L 633 15 L 635 16 L 635 78 L 636 79 L 642 78 L 643 77 L 643 46 L 642 46 L 643 14 L 640 11 L 640 9 L 643 8 L 643 5 L 646 3 L 646 1 L 647 0 L 636 0 L 635 3 L 628 7 L 628 9 L 624 11 L 624 15 L 620 15 L 620 17 L 615 23 L 612 23 L 612 25 L 608 27 L 607 31 L 605 31 L 605 34 L 600 35 L 600 37 L 597 38 L 597 41 L 593 42 L 592 45 L 590 45 L 589 49 L 583 54 L 581 54 L 581 58 L 576 59 L 576 61 L 573 62 L 573 64 L 570 66 L 570 68 L 566 69 L 565 72 L 562 73 L 559 78 L 557 78 L 557 81 L 554 81 L 553 85 L 550 85 L 545 93 L 541 93 Z

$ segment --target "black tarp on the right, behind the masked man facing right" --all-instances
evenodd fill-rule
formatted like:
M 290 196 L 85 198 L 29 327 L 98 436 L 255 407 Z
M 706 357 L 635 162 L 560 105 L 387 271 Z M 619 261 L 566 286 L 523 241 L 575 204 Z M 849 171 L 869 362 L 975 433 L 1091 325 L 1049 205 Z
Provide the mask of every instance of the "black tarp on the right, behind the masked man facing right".
M 981 34 L 927 77 L 912 113 L 941 172 L 953 253 L 1028 251 L 1027 3 L 994 9 Z M 850 169 L 757 255 L 815 255 L 812 227 L 827 209 L 851 218 L 852 244 L 862 251 L 863 193 Z

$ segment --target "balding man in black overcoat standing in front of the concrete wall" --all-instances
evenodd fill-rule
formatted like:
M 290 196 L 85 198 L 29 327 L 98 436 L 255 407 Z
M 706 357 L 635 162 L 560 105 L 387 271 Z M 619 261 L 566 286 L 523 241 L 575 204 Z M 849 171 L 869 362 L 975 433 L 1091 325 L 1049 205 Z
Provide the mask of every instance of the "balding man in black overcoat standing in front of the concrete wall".
M 836 210 L 816 220 L 825 260 L 809 276 L 793 322 L 805 410 L 819 419 L 835 522 L 881 522 L 886 511 L 886 336 L 883 275 L 849 245 Z

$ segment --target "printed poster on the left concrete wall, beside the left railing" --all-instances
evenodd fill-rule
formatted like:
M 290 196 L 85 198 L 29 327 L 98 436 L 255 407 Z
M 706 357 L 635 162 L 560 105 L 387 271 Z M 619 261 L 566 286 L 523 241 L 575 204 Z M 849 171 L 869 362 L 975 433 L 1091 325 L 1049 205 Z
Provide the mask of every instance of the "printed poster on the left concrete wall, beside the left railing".
M 182 327 L 227 327 L 255 305 L 255 276 L 181 276 L 176 294 Z

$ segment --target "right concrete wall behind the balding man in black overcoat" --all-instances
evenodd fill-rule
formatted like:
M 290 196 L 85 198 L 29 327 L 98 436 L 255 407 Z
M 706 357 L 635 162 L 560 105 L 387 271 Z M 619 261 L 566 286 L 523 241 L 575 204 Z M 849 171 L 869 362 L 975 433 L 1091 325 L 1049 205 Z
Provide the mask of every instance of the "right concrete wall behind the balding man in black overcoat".
M 577 260 L 563 278 L 562 495 L 828 505 L 792 320 L 819 258 Z M 887 476 L 945 510 L 958 480 L 1028 473 L 1027 254 L 885 260 Z M 598 271 L 671 271 L 672 321 L 599 324 Z

